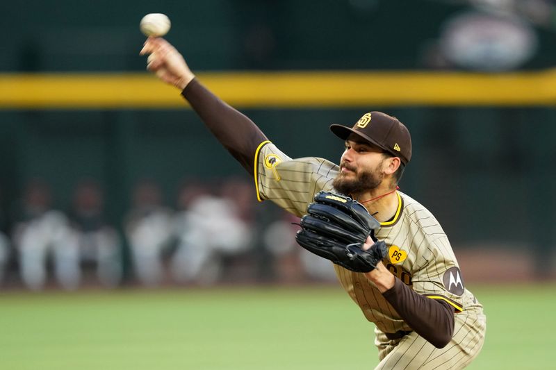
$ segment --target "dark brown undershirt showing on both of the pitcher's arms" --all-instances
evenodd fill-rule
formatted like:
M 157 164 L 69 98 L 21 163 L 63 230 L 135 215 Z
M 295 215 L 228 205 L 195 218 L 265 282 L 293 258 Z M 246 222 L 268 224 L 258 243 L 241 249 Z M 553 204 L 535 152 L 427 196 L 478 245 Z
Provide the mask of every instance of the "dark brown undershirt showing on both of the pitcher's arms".
M 194 78 L 183 92 L 204 124 L 218 141 L 240 162 L 250 175 L 254 174 L 254 155 L 261 142 L 267 140 L 251 119 L 208 91 Z M 384 298 L 413 329 L 438 348 L 452 338 L 454 308 L 444 301 L 427 298 L 414 292 L 395 278 L 394 286 Z

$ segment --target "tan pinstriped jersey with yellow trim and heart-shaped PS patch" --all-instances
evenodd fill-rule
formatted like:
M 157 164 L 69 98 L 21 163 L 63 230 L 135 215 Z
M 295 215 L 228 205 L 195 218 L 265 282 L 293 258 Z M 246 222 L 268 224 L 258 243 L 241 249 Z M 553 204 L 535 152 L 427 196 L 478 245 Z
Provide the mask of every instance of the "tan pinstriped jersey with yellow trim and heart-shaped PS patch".
M 257 196 L 301 217 L 314 194 L 333 190 L 338 170 L 322 158 L 289 158 L 274 144 L 263 142 L 255 156 Z M 459 312 L 456 316 L 482 315 L 482 305 L 464 288 L 448 237 L 423 205 L 398 192 L 395 217 L 382 223 L 375 236 L 389 247 L 385 266 L 415 292 L 450 303 Z M 336 264 L 334 269 L 345 291 L 377 329 L 383 333 L 411 330 L 363 274 Z

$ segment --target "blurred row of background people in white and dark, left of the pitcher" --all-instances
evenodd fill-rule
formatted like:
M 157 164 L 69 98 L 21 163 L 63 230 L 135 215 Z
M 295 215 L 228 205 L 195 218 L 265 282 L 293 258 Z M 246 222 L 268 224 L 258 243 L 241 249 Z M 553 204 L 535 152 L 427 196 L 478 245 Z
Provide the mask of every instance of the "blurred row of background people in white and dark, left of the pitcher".
M 115 224 L 96 180 L 80 180 L 62 210 L 49 184 L 33 179 L 0 234 L 0 284 L 73 290 L 334 278 L 327 262 L 294 246 L 299 219 L 256 203 L 243 178 L 183 181 L 173 205 L 156 180 L 141 180 Z

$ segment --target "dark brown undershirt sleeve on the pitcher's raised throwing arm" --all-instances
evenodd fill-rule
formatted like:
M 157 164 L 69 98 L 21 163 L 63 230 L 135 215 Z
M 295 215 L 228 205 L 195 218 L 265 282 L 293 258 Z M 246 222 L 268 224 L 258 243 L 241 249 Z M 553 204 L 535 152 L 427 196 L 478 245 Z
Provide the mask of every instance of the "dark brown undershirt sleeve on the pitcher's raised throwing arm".
M 197 78 L 183 89 L 181 95 L 216 139 L 253 175 L 256 149 L 267 140 L 263 132 L 251 119 L 208 91 Z

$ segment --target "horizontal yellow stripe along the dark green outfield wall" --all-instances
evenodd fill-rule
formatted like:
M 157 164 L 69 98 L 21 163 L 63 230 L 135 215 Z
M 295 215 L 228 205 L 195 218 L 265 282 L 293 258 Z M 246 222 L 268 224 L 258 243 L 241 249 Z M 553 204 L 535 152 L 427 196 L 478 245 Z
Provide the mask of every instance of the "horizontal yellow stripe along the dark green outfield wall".
M 541 72 L 222 72 L 198 74 L 243 108 L 552 106 L 556 69 Z M 0 108 L 182 108 L 152 74 L 0 74 Z

